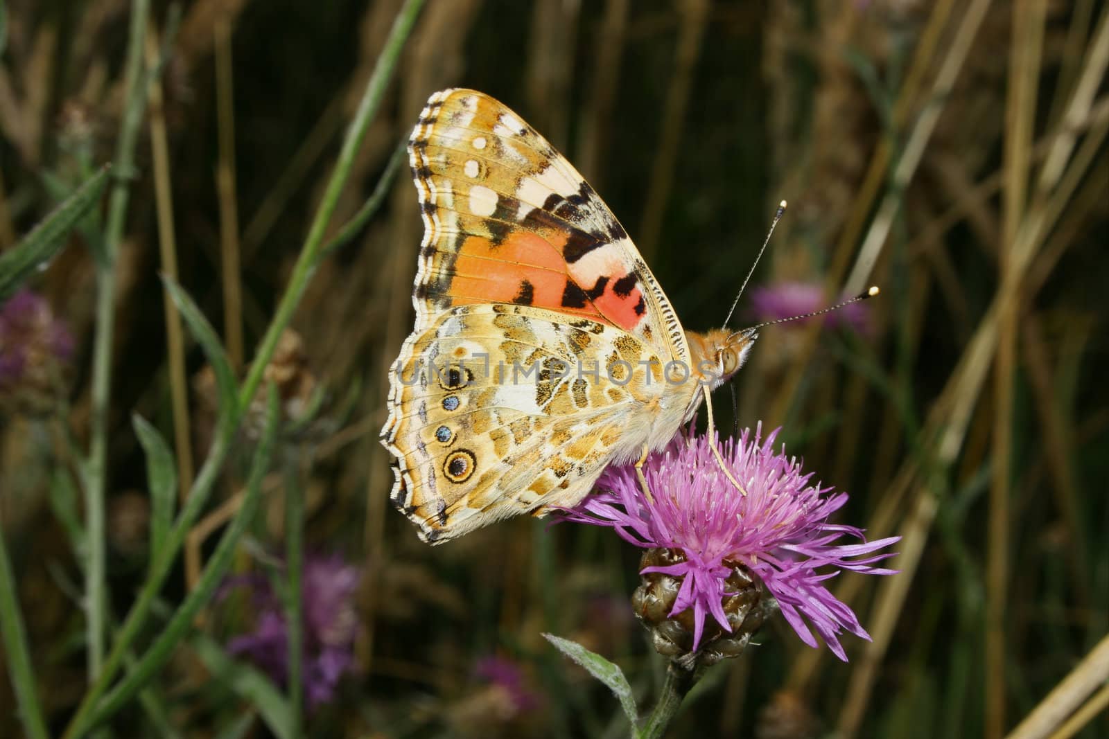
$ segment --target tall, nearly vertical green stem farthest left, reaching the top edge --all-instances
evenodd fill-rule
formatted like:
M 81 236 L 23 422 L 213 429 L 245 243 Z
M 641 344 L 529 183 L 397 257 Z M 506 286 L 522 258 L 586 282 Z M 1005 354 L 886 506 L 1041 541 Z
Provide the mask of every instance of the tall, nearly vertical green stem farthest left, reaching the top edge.
M 149 0 L 134 0 L 126 58 L 126 100 L 115 150 L 116 176 L 104 227 L 103 250 L 96 255 L 96 327 L 92 359 L 92 411 L 90 419 L 89 461 L 85 465 L 85 541 L 89 545 L 85 568 L 85 617 L 89 639 L 89 681 L 101 674 L 106 635 L 108 599 L 104 532 L 104 491 L 108 486 L 108 409 L 112 388 L 112 337 L 115 329 L 115 260 L 126 223 L 128 199 L 134 148 L 145 104 L 145 75 L 142 54 L 146 32 Z

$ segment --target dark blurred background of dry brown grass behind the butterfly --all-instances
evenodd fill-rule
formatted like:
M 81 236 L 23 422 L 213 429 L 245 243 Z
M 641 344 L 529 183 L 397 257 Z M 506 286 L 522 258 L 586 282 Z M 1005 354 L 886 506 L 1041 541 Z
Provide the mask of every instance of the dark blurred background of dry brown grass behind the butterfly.
M 167 10 L 156 4 L 161 31 Z M 1066 161 L 1088 157 L 1075 165 L 1072 186 L 1064 177 L 1046 193 L 1036 187 L 1106 8 L 1082 0 L 989 3 L 969 53 L 955 63 L 973 4 L 430 0 L 366 137 L 334 224 L 372 192 L 430 93 L 457 85 L 500 99 L 586 175 L 683 325 L 696 330 L 723 320 L 780 199 L 790 209 L 752 284 L 815 283 L 832 298 L 869 228 L 881 225 L 879 204 L 898 198 L 864 278 L 883 290 L 866 304 L 872 330 L 765 329 L 734 381 L 742 425 L 784 427 L 787 450 L 804 456 L 806 470 L 852 493 L 844 522 L 874 537 L 905 537 L 899 548 L 908 556 L 893 561 L 903 574 L 865 583 L 846 574 L 833 586 L 877 642 L 847 637 L 852 661 L 844 665 L 775 619 L 760 646 L 710 674 L 673 736 L 811 736 L 773 733 L 783 716 L 858 736 L 999 736 L 1106 634 L 1109 110 L 1100 78 L 1093 103 L 1080 106 L 1068 129 L 1078 140 Z M 1037 63 L 1028 44 L 1014 51 L 1013 38 L 1014 19 L 1039 6 L 1042 21 L 1031 22 L 1029 37 L 1042 34 Z M 199 0 L 181 8 L 162 79 L 180 279 L 216 327 L 228 317 L 241 322 L 247 358 L 398 7 Z M 90 147 L 95 162 L 111 158 L 126 12 L 120 0 L 9 3 L 0 247 L 49 211 L 45 177 L 73 171 L 75 145 Z M 233 120 L 217 115 L 220 18 L 233 33 Z M 937 75 L 953 63 L 954 89 L 937 94 Z M 1013 102 L 1015 69 L 1030 69 L 1034 100 Z M 906 142 L 935 105 L 939 117 L 919 165 L 907 184 L 895 183 Z M 1030 135 L 1021 134 L 1020 116 Z M 216 186 L 221 130 L 233 131 L 231 195 Z M 883 147 L 893 153 L 885 162 Z M 1028 195 L 1009 202 L 1006 188 L 1016 185 L 1007 162 L 1021 151 L 1034 163 Z M 144 536 L 138 491 L 145 480 L 130 414 L 152 419 L 172 438 L 145 125 L 136 152 L 119 267 L 110 435 L 118 609 L 143 573 L 143 550 L 129 540 Z M 871 171 L 876 187 L 865 184 Z M 230 204 L 237 207 L 242 290 L 242 308 L 232 314 L 221 289 L 220 236 Z M 1004 291 L 1014 229 L 1045 212 L 1056 215 L 1018 269 L 1019 287 L 1003 311 L 1011 322 L 999 322 L 990 307 Z M 420 228 L 403 170 L 385 207 L 315 275 L 293 321 L 303 339 L 299 371 L 330 392 L 324 413 L 332 422 L 305 442 L 314 460 L 307 543 L 359 563 L 364 578 L 357 673 L 313 717 L 315 736 L 604 736 L 607 727 L 607 736 L 619 736 L 611 695 L 540 633 L 578 639 L 617 661 L 649 705 L 662 659 L 627 606 L 638 551 L 609 532 L 547 530 L 531 520 L 430 548 L 387 505 L 391 473 L 377 443 L 384 372 L 411 326 Z M 34 287 L 78 339 L 69 422 L 83 439 L 94 294 L 80 237 Z M 746 302 L 736 325 L 756 320 Z M 1015 348 L 1011 360 L 998 358 L 999 325 L 1001 345 Z M 988 347 L 975 355 L 984 337 Z M 191 347 L 189 376 L 203 363 Z M 997 378 L 1006 376 L 1014 381 L 1008 419 L 997 412 L 1005 398 Z M 203 390 L 193 384 L 190 393 L 201 459 L 210 413 Z M 731 391 L 716 398 L 729 429 Z M 1000 429 L 1008 433 L 999 437 Z M 84 668 L 82 620 L 67 587 L 79 575 L 45 502 L 49 466 L 58 463 L 51 444 L 41 419 L 3 419 L 2 520 L 48 711 L 63 722 Z M 241 482 L 243 464 L 232 465 L 222 496 Z M 1008 502 L 1007 515 L 998 500 Z M 275 494 L 241 568 L 251 566 L 252 551 L 279 546 L 281 510 Z M 991 522 L 1007 531 L 993 558 Z M 184 576 L 175 576 L 164 596 L 175 601 L 184 587 Z M 234 620 L 210 614 L 204 628 L 222 639 Z M 1000 640 L 989 650 L 991 634 Z M 490 718 L 474 667 L 494 654 L 521 666 L 529 689 L 545 697 L 539 708 Z M 11 736 L 19 728 L 6 679 L 0 735 Z M 250 710 L 187 649 L 156 687 L 190 736 L 216 736 Z M 135 708 L 121 727 L 124 720 L 143 717 Z M 1083 736 L 1109 728 L 1103 717 L 1095 723 Z

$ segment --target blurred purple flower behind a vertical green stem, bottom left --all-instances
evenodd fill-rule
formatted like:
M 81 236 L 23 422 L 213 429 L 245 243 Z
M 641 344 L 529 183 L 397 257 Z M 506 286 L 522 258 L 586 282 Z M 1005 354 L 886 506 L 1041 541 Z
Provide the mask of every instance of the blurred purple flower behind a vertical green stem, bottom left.
M 358 568 L 338 555 L 305 558 L 302 588 L 304 618 L 304 692 L 309 708 L 335 697 L 339 678 L 354 665 L 354 637 L 357 626 L 355 591 Z M 254 596 L 257 617 L 254 630 L 227 643 L 227 650 L 243 655 L 274 681 L 288 679 L 288 635 L 281 598 L 262 577 L 228 578 L 221 591 L 247 586 Z

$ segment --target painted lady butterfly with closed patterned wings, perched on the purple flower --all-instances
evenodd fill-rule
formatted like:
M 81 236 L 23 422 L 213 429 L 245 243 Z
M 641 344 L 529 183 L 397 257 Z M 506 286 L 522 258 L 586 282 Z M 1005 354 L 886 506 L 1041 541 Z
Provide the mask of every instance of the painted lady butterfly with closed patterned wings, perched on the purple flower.
M 597 193 L 498 101 L 435 93 L 408 152 L 426 233 L 381 442 L 425 541 L 576 505 L 743 365 L 754 330 L 683 330 Z

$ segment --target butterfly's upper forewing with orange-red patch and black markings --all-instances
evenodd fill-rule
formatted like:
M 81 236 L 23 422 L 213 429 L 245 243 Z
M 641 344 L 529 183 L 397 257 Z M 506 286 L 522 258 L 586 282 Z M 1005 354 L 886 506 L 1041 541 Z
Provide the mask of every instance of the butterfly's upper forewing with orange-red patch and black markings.
M 417 331 L 451 306 L 508 302 L 609 324 L 688 361 L 678 317 L 615 216 L 503 104 L 474 90 L 435 93 L 409 162 L 425 225 Z

